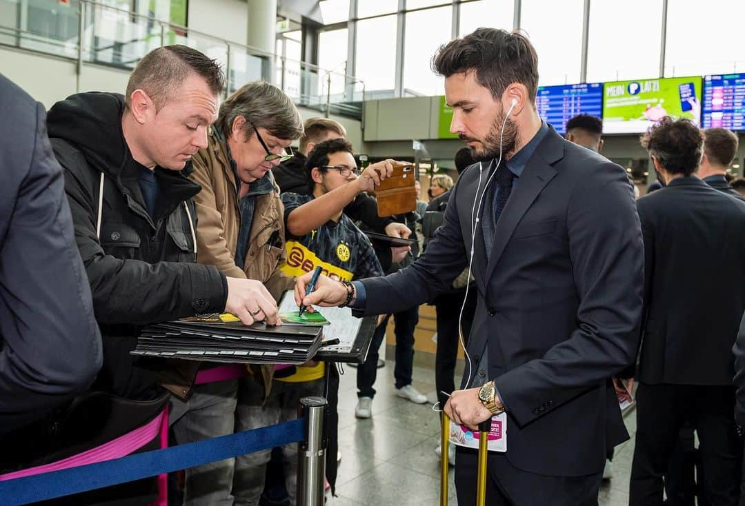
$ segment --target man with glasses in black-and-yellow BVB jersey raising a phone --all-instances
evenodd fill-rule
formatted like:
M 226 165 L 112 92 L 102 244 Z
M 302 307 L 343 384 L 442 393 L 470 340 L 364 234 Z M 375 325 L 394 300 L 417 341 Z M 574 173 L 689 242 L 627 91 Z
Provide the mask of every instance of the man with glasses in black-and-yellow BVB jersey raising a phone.
M 317 144 L 305 164 L 308 188 L 312 193 L 282 193 L 288 235 L 287 260 L 281 266 L 282 271 L 295 276 L 322 266 L 332 278 L 346 281 L 381 274 L 382 269 L 370 240 L 343 214 L 343 209 L 358 193 L 373 190 L 382 179 L 390 176 L 392 170 L 390 161 L 383 161 L 367 167 L 360 175 L 349 141 L 336 138 Z M 281 374 L 285 374 L 285 371 Z M 297 417 L 297 401 L 300 397 L 323 393 L 326 375 L 323 362 L 299 366 L 292 372 L 288 376 L 274 378 L 270 395 L 263 403 L 256 395 L 252 405 L 244 405 L 241 397 L 238 429 L 294 419 Z M 329 397 L 334 397 L 336 379 L 331 373 L 329 371 Z M 333 401 L 330 400 L 330 403 Z M 245 411 L 241 411 L 243 409 Z M 247 414 L 245 417 L 244 412 Z M 247 422 L 250 422 L 247 426 L 240 426 Z M 333 446 L 335 441 L 333 426 L 331 431 L 329 446 Z M 282 454 L 285 484 L 290 504 L 294 505 L 297 446 L 284 446 Z M 332 451 L 331 455 L 335 457 L 336 452 Z M 265 450 L 236 459 L 233 489 L 236 505 L 259 504 L 269 458 L 270 450 Z M 333 481 L 333 478 L 329 477 L 329 480 Z

